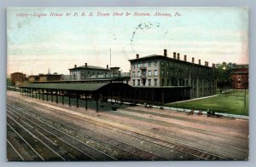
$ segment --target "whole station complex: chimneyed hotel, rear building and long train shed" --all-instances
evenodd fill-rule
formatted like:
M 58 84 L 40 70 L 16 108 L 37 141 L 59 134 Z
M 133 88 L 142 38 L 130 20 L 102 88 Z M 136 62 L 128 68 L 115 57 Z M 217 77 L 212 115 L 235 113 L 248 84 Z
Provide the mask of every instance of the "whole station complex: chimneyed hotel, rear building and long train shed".
M 42 94 L 63 98 L 67 96 L 83 101 L 125 101 L 130 104 L 164 105 L 168 102 L 183 101 L 192 98 L 212 95 L 216 91 L 214 77 L 215 65 L 201 65 L 181 60 L 179 53 L 173 57 L 148 55 L 130 60 L 131 72 L 122 73 L 119 67 L 102 68 L 99 66 L 74 66 L 69 69 L 71 80 L 35 82 L 23 86 L 20 94 Z M 130 82 L 128 82 L 130 81 Z M 99 87 L 96 88 L 96 85 Z M 37 97 L 37 96 L 36 96 Z

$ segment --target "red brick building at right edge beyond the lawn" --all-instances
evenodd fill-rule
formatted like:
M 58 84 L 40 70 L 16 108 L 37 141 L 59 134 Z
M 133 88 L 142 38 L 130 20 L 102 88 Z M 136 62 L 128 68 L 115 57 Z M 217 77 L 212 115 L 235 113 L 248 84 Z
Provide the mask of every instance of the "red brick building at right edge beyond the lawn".
M 231 72 L 232 88 L 247 89 L 249 79 L 248 65 L 237 65 Z

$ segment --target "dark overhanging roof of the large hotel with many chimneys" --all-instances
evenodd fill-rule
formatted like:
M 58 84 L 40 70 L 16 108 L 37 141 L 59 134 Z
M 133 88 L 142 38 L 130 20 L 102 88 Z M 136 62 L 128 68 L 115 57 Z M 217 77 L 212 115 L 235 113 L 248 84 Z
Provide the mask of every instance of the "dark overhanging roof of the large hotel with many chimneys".
M 136 62 L 138 60 L 150 60 L 150 59 L 166 59 L 166 60 L 173 60 L 173 61 L 178 61 L 178 62 L 182 62 L 182 63 L 186 63 L 186 64 L 190 64 L 190 65 L 194 65 L 194 66 L 202 66 L 202 67 L 207 67 L 207 68 L 212 68 L 211 66 L 204 66 L 203 64 L 199 65 L 199 64 L 196 64 L 196 63 L 192 63 L 192 62 L 189 62 L 189 61 L 185 61 L 185 60 L 177 60 L 177 59 L 174 59 L 172 57 L 168 57 L 168 56 L 164 56 L 164 55 L 147 55 L 147 56 L 143 56 L 143 57 L 140 57 L 140 58 L 137 58 L 137 59 L 131 59 L 129 60 L 130 62 Z

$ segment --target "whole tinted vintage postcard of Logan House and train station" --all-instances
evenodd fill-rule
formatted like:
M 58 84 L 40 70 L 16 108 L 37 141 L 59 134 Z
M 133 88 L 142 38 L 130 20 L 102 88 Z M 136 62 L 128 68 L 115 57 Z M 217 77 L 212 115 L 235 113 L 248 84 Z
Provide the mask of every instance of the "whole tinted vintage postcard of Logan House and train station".
M 8 161 L 249 158 L 247 8 L 8 8 Z

